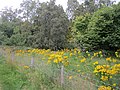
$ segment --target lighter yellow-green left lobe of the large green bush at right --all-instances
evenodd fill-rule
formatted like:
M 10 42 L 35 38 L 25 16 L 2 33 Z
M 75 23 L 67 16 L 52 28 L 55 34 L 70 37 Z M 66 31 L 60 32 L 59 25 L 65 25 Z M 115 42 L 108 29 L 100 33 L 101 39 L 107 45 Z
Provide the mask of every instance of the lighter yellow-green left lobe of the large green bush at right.
M 89 44 L 83 43 L 83 41 L 85 42 L 88 41 L 88 39 L 86 38 L 89 37 L 87 33 L 88 33 L 88 24 L 89 24 L 90 19 L 91 19 L 91 15 L 86 14 L 84 16 L 77 17 L 73 22 L 73 35 L 74 35 L 74 38 L 76 39 L 78 46 L 80 46 L 81 48 L 83 46 L 84 48 L 86 47 L 90 48 Z

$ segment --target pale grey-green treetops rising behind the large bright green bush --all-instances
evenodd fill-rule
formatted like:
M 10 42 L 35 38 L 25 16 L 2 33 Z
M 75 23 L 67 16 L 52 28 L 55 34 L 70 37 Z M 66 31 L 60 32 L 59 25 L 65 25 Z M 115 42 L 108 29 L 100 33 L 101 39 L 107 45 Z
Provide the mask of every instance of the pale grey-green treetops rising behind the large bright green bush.
M 114 2 L 112 0 L 84 0 L 83 3 L 79 3 L 77 0 L 68 0 L 66 13 L 69 19 L 73 20 L 76 16 L 85 15 L 86 13 L 93 14 L 104 6 L 112 6 Z

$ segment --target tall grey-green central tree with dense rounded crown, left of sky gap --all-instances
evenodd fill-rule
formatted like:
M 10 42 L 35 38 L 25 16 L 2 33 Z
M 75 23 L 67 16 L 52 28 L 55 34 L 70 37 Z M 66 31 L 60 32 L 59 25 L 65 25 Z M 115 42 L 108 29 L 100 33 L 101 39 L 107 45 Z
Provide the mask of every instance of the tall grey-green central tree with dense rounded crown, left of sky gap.
M 55 0 L 40 4 L 34 25 L 35 46 L 54 50 L 65 47 L 68 20 L 63 7 L 55 5 Z

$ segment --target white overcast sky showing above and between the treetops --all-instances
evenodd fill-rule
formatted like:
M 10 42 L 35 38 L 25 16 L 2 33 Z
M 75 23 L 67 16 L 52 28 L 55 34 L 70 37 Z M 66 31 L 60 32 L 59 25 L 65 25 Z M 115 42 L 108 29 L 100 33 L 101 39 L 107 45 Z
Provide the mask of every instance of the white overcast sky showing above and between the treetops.
M 18 8 L 20 6 L 20 3 L 23 0 L 0 0 L 0 10 L 2 10 L 4 7 L 13 7 L 13 8 Z M 40 0 L 40 2 L 46 2 L 50 0 Z M 63 6 L 64 10 L 67 7 L 67 1 L 68 0 L 56 0 L 56 4 L 60 4 Z M 84 0 L 78 0 L 78 1 L 84 1 Z M 116 2 L 120 2 L 120 0 L 116 0 Z

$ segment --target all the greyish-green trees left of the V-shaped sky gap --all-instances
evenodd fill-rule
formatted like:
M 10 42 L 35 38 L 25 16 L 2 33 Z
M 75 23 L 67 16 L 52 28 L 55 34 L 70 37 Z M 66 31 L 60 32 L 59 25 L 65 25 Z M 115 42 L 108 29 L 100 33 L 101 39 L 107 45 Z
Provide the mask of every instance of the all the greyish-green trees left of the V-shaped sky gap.
M 62 49 L 66 46 L 68 18 L 55 0 L 40 3 L 25 0 L 20 9 L 2 11 L 0 44 Z

